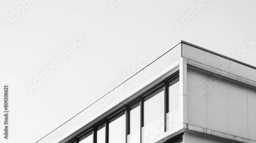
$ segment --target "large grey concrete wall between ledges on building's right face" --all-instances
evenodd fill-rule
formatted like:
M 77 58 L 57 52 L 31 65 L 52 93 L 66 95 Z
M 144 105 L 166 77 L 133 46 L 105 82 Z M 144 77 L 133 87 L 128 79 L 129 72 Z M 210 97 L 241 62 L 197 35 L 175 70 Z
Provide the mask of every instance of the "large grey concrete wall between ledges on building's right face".
M 187 69 L 187 123 L 256 140 L 256 90 Z

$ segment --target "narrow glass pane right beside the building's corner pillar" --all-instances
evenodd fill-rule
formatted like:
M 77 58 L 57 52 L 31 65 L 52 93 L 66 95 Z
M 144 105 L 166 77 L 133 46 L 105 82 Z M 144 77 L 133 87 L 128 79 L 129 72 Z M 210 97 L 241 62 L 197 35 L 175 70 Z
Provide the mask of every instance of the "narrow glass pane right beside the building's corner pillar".
M 166 115 L 167 130 L 173 129 L 179 125 L 180 122 L 180 93 L 179 81 L 174 84 L 169 84 L 168 98 L 169 98 L 169 112 Z

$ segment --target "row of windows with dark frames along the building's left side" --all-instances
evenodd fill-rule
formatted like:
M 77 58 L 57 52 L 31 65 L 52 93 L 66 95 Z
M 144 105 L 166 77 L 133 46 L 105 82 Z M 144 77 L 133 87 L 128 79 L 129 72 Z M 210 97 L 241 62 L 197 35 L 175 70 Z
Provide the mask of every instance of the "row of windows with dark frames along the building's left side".
M 176 73 L 69 143 L 155 142 L 179 125 L 179 96 Z

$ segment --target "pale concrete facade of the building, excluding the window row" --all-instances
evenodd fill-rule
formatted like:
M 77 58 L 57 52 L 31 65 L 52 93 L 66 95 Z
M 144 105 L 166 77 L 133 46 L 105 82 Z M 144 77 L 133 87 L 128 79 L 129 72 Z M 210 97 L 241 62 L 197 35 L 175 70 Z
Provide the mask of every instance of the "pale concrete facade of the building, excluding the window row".
M 179 125 L 147 142 L 256 142 L 256 68 L 185 41 L 37 142 L 69 142 L 177 72 Z

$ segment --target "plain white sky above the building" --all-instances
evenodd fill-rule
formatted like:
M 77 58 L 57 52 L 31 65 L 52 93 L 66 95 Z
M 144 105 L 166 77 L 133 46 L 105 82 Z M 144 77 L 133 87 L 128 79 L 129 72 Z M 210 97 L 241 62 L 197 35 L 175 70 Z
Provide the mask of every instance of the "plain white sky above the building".
M 22 4 L 0 1 L 0 88 L 10 86 L 10 139 L 0 142 L 37 141 L 123 81 L 140 57 L 153 60 L 180 40 L 226 56 L 256 41 L 255 1 L 206 0 L 180 32 L 174 22 L 199 1 L 119 2 L 113 10 L 109 0 L 37 0 L 8 27 Z M 87 39 L 61 61 L 56 54 L 79 33 Z M 256 43 L 239 58 L 256 66 L 255 53 Z M 58 67 L 30 93 L 27 83 L 53 60 Z M 3 96 L 0 107 L 3 130 Z

